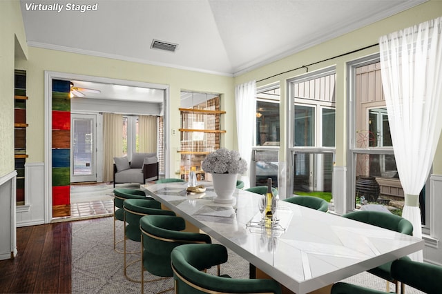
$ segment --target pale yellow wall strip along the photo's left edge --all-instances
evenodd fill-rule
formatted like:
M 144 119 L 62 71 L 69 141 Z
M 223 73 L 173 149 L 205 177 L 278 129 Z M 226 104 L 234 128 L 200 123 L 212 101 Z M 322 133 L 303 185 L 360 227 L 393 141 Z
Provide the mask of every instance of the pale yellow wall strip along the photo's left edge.
M 16 41 L 17 40 L 17 41 Z M 19 1 L 0 1 L 0 177 L 14 168 L 14 69 L 26 58 L 25 31 Z

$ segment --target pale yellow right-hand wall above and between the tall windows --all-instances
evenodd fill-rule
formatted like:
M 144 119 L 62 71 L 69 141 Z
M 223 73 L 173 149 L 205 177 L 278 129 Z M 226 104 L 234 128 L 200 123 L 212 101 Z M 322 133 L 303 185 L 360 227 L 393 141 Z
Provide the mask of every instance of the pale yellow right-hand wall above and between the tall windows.
M 442 1 L 441 0 L 431 0 L 423 3 L 419 6 L 411 8 L 405 12 L 396 14 L 383 21 L 378 21 L 370 26 L 355 30 L 347 35 L 332 39 L 330 41 L 314 46 L 297 54 L 291 55 L 284 59 L 280 59 L 267 66 L 262 66 L 256 70 L 251 70 L 243 75 L 235 78 L 235 84 L 242 84 L 245 81 L 250 81 L 255 79 L 260 81 L 267 77 L 277 75 L 280 72 L 285 72 L 294 68 L 299 68 L 310 63 L 315 63 L 324 59 L 329 59 L 330 57 L 342 55 L 346 52 L 351 52 L 359 48 L 365 48 L 373 44 L 378 43 L 379 37 L 381 35 L 387 35 L 390 32 L 396 30 L 401 30 L 409 26 L 413 26 L 417 23 L 427 21 L 430 19 L 435 19 L 436 17 L 442 16 Z M 367 55 L 372 55 L 379 52 L 378 46 L 369 48 L 360 52 L 352 53 L 351 55 L 346 55 L 344 57 L 339 57 L 322 63 L 318 63 L 314 66 L 309 66 L 309 72 L 318 70 L 321 68 L 327 68 L 329 66 L 336 66 L 336 165 L 346 166 L 347 159 L 347 77 L 346 77 L 346 63 L 354 59 L 359 59 Z M 305 73 L 305 69 L 295 70 L 292 72 L 287 72 L 283 75 L 278 75 L 270 79 L 265 79 L 260 81 L 257 86 L 265 86 L 268 84 L 279 83 L 281 86 L 281 92 L 286 91 L 287 79 L 291 79 L 298 75 Z M 287 101 L 285 101 L 285 95 L 281 96 L 282 102 L 280 106 L 281 115 L 285 115 L 287 108 Z M 281 134 L 285 134 L 286 124 L 281 124 L 280 130 Z M 339 131 L 342 130 L 342 131 Z M 442 140 L 441 140 L 442 141 Z M 281 146 L 282 142 L 281 142 Z M 280 150 L 280 161 L 285 160 L 285 150 L 281 148 Z M 438 160 L 439 159 L 439 160 Z M 436 153 L 436 159 L 434 160 L 433 172 L 442 175 L 442 164 L 438 162 L 442 161 L 442 143 L 439 144 L 439 149 Z

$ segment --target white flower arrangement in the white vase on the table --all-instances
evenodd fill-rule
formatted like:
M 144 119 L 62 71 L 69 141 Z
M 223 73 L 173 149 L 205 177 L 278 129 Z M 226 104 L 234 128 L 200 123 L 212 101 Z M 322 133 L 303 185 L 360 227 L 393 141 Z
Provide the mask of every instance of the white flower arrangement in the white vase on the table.
M 206 173 L 239 173 L 247 170 L 247 161 L 236 150 L 220 148 L 206 156 L 202 161 L 202 170 Z

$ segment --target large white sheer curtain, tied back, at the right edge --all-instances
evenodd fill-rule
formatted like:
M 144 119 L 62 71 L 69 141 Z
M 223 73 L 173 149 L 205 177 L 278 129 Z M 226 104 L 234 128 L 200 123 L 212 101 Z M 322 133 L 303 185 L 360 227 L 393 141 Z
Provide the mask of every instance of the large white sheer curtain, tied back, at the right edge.
M 405 193 L 402 216 L 422 237 L 419 193 L 442 129 L 442 18 L 379 39 L 394 157 Z M 412 255 L 422 261 L 422 252 Z

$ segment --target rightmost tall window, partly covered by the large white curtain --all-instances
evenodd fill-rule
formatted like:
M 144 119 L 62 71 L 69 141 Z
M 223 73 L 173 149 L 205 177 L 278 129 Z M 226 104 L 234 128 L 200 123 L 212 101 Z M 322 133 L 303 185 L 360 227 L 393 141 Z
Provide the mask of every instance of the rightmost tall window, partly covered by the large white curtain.
M 347 206 L 385 204 L 392 213 L 401 215 L 404 193 L 394 159 L 378 55 L 349 63 L 349 72 L 352 127 L 348 195 L 354 197 L 347 199 Z M 362 182 L 371 188 L 363 188 Z M 422 203 L 424 194 L 421 193 Z M 425 224 L 424 216 L 422 222 Z

